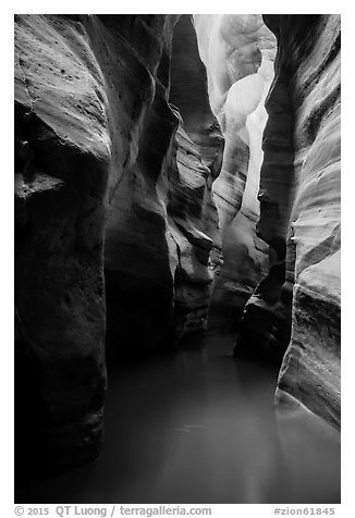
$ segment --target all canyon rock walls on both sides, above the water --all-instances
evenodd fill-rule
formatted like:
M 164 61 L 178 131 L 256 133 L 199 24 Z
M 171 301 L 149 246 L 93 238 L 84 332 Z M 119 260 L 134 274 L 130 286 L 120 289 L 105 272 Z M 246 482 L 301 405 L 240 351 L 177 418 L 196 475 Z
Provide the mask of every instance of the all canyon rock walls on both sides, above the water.
M 94 459 L 105 353 L 172 348 L 208 316 L 237 355 L 283 358 L 279 402 L 339 424 L 340 20 L 265 22 L 15 17 L 22 467 Z

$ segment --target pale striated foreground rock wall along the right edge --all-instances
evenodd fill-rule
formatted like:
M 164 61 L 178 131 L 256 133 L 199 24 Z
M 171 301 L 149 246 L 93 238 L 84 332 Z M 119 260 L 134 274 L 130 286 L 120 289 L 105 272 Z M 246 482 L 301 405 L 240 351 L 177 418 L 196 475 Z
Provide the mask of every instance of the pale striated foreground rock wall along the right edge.
M 277 397 L 339 427 L 340 15 L 266 21 L 279 33 L 279 66 L 294 107 L 295 195 L 286 240 L 292 335 Z

